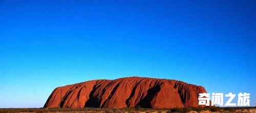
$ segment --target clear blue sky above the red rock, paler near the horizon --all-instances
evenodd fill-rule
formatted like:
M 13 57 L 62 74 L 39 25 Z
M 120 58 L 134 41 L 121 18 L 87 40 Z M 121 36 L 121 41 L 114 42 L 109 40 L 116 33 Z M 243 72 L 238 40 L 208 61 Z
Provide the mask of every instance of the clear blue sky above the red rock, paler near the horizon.
M 141 76 L 251 94 L 256 1 L 0 0 L 0 107 L 57 86 Z

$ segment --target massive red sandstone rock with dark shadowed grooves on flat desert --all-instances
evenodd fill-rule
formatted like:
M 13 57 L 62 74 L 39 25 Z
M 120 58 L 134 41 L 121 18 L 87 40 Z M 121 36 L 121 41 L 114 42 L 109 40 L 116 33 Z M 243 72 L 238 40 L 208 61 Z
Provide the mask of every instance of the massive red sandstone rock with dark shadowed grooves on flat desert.
M 197 107 L 204 87 L 177 80 L 127 77 L 92 80 L 54 89 L 46 108 Z

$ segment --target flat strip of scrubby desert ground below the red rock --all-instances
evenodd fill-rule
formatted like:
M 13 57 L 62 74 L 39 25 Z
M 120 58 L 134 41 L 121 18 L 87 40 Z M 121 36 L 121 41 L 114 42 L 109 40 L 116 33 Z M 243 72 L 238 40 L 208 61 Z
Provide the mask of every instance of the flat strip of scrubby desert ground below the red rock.
M 2 112 L 77 112 L 77 113 L 89 113 L 89 112 L 189 112 L 189 113 L 203 113 L 203 112 L 256 112 L 256 107 L 212 107 L 212 108 L 202 108 L 202 107 L 183 107 L 183 108 L 170 108 L 170 109 L 151 109 L 151 108 L 0 108 L 0 113 Z

